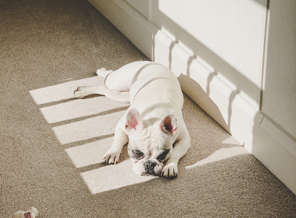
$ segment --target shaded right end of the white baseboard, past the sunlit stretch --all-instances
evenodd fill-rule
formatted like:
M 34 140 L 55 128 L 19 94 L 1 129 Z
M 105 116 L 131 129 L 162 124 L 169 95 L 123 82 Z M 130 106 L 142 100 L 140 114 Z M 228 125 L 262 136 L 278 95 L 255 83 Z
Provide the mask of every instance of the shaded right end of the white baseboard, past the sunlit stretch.
M 296 194 L 296 139 L 263 112 L 258 122 L 252 154 Z

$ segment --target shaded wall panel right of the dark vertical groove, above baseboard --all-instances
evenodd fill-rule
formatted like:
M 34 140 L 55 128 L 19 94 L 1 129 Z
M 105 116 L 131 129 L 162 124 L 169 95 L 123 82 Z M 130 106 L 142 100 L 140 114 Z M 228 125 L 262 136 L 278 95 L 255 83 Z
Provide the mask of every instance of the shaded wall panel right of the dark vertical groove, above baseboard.
M 296 1 L 287 3 L 271 1 L 269 6 L 262 111 L 296 137 Z

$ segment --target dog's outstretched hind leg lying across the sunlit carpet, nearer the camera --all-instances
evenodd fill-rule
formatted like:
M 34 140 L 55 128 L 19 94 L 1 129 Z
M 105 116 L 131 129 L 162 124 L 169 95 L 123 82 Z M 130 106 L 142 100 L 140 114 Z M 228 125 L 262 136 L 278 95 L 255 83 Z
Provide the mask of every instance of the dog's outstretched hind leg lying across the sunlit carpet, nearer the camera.
M 104 86 L 79 86 L 74 91 L 75 98 L 83 98 L 84 96 L 90 94 L 104 95 L 107 98 L 117 102 L 130 102 L 129 91 L 114 91 Z

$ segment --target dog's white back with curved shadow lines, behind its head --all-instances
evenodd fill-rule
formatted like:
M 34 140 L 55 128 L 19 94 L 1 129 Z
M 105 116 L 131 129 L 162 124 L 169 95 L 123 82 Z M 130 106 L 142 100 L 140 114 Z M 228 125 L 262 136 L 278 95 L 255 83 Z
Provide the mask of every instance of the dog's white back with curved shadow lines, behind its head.
M 181 117 L 183 94 L 175 74 L 158 63 L 133 62 L 141 70 L 130 88 L 131 107 L 136 108 L 143 119 L 173 113 Z

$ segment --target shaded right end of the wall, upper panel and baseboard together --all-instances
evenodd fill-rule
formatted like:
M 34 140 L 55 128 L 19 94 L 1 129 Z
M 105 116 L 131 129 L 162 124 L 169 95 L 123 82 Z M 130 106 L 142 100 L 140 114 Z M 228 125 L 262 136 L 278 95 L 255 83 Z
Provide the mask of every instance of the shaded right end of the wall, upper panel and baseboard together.
M 271 0 L 255 156 L 296 190 L 296 1 Z M 254 147 L 254 145 L 253 145 Z

